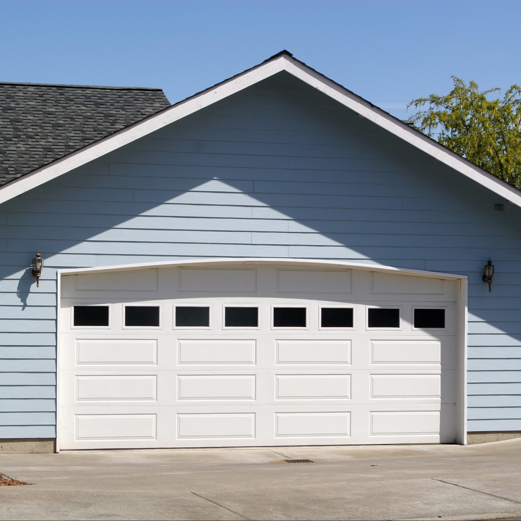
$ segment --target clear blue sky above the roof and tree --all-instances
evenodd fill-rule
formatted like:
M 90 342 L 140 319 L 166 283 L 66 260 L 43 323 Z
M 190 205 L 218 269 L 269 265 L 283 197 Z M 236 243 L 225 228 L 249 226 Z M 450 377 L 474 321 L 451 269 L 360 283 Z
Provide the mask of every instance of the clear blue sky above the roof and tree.
M 158 86 L 171 103 L 286 48 L 401 118 L 451 75 L 521 83 L 521 2 L 0 0 L 0 81 Z

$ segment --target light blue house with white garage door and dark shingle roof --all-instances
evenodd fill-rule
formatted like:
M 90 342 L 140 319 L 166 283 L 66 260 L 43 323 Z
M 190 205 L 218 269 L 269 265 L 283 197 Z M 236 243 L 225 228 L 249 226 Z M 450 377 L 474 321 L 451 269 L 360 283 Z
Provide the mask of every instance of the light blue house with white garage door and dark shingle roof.
M 4 450 L 521 433 L 517 189 L 287 51 L 2 88 Z

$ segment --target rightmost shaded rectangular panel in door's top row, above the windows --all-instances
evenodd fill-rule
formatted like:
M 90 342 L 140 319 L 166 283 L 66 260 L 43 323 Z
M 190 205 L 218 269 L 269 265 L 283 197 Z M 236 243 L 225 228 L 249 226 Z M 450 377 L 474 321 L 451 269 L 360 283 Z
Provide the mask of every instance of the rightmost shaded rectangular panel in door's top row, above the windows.
M 443 280 L 372 271 L 371 293 L 388 295 L 442 295 Z

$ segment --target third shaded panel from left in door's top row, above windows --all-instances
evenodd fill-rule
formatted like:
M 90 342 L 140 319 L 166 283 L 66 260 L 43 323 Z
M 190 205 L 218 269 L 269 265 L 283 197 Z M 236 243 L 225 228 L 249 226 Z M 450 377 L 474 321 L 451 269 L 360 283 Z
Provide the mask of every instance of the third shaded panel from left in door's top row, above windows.
M 277 291 L 283 293 L 351 293 L 351 270 L 279 270 Z

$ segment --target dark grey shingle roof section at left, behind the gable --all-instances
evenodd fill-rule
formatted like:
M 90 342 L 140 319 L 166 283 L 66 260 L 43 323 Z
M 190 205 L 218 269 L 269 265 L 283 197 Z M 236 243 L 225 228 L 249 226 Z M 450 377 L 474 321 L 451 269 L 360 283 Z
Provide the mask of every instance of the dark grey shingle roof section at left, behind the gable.
M 0 185 L 168 106 L 161 89 L 0 82 Z

